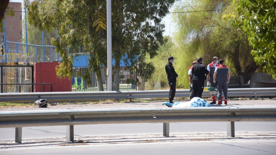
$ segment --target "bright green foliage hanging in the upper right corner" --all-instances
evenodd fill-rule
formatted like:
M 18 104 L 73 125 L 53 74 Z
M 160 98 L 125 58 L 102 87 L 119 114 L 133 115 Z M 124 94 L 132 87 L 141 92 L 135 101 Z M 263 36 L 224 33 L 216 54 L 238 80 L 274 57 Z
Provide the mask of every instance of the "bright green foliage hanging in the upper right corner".
M 276 1 L 239 0 L 235 7 L 233 24 L 248 36 L 254 61 L 276 80 Z

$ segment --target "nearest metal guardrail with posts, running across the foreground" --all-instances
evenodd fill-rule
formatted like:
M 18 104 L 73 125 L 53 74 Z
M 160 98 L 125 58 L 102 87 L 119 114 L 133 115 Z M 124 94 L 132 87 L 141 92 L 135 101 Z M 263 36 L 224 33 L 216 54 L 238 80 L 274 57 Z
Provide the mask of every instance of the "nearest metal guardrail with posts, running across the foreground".
M 114 123 L 227 122 L 227 136 L 235 137 L 235 121 L 276 121 L 276 107 L 118 108 L 0 112 L 0 128 L 16 127 L 16 142 L 22 127 L 67 125 L 66 139 L 74 141 L 74 125 Z M 165 122 L 165 123 L 164 123 Z

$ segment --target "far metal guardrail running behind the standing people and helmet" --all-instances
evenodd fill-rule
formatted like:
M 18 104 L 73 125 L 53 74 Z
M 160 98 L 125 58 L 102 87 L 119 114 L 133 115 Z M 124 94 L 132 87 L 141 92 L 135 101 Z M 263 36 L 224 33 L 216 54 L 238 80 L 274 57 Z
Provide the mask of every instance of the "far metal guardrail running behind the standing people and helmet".
M 34 92 L 2 93 L 0 102 L 34 102 L 46 98 L 48 101 L 87 101 L 109 99 L 167 98 L 169 90 L 149 91 L 103 91 L 103 92 Z M 215 92 L 203 92 L 210 96 Z M 231 88 L 228 96 L 276 96 L 276 88 Z M 189 97 L 189 90 L 176 90 L 175 97 Z

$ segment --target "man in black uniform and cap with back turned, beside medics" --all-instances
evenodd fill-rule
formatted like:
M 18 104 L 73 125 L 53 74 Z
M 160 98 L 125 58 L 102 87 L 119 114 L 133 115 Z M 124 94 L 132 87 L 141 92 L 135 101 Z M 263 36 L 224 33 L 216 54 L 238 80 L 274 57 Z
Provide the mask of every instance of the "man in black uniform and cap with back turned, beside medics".
M 206 76 L 208 75 L 209 71 L 207 68 L 203 65 L 203 59 L 199 57 L 197 59 L 196 65 L 192 68 L 192 74 L 193 74 L 193 91 L 191 98 L 193 97 L 199 97 L 201 98 L 203 88 L 204 88 L 204 81 L 206 80 Z

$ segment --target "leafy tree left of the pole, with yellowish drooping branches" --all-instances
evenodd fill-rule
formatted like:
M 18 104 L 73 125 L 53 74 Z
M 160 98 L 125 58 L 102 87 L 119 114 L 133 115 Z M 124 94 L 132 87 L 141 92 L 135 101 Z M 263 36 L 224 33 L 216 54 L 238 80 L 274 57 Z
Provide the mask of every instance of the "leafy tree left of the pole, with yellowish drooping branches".
M 39 30 L 58 28 L 58 38 L 52 38 L 52 45 L 62 58 L 56 71 L 59 77 L 72 77 L 73 57 L 76 51 L 89 53 L 89 69 L 84 78 L 90 79 L 90 72 L 96 73 L 98 90 L 103 91 L 100 67 L 106 65 L 105 21 L 100 12 L 105 12 L 103 2 L 98 1 L 44 1 L 27 2 L 27 20 Z M 90 80 L 87 80 L 89 83 Z

